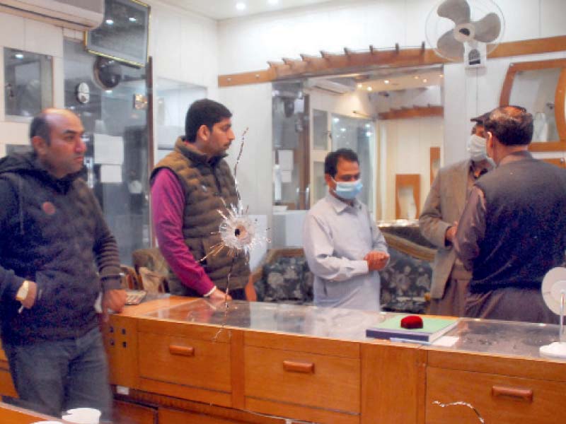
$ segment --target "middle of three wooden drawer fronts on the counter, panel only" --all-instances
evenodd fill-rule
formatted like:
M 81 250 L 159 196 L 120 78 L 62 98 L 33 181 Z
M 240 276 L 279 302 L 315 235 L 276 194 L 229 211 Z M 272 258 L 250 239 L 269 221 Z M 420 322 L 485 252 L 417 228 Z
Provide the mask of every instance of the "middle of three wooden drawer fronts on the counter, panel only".
M 246 346 L 245 395 L 359 413 L 359 359 Z

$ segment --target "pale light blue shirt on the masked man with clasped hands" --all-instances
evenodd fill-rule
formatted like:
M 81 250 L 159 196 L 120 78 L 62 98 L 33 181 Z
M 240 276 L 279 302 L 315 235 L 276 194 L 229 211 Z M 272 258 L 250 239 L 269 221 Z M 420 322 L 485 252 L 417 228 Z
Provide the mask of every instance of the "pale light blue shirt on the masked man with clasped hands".
M 366 205 L 326 194 L 308 211 L 303 245 L 316 306 L 379 311 L 379 273 L 368 270 L 364 257 L 387 252 L 387 244 Z

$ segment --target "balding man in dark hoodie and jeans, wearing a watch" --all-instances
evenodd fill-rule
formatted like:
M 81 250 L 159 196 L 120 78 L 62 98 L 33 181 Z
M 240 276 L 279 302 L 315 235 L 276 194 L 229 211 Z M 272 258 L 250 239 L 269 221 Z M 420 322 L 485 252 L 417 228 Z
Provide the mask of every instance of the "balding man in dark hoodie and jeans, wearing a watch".
M 108 365 L 95 303 L 120 311 L 120 261 L 103 213 L 79 178 L 81 120 L 33 119 L 33 153 L 0 160 L 1 340 L 22 405 L 61 416 L 91 407 L 110 420 Z

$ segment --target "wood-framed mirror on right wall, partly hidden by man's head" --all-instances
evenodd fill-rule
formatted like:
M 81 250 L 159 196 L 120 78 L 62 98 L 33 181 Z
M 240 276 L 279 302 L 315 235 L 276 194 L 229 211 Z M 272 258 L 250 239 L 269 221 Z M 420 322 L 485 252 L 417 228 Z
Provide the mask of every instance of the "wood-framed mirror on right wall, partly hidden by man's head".
M 566 148 L 566 59 L 509 65 L 500 105 L 520 105 L 533 114 L 532 151 Z

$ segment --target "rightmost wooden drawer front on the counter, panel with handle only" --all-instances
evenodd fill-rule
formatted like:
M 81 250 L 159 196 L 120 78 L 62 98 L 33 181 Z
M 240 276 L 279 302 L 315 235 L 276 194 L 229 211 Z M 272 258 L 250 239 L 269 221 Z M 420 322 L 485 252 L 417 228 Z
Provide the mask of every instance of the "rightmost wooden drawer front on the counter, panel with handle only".
M 427 423 L 478 423 L 472 404 L 486 423 L 558 423 L 566 416 L 566 383 L 442 368 L 427 368 Z

